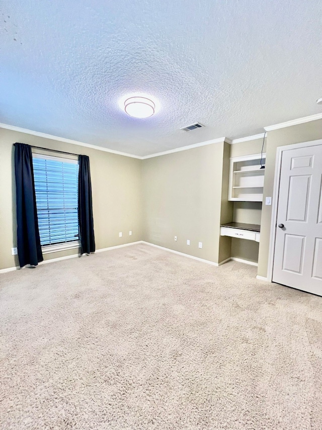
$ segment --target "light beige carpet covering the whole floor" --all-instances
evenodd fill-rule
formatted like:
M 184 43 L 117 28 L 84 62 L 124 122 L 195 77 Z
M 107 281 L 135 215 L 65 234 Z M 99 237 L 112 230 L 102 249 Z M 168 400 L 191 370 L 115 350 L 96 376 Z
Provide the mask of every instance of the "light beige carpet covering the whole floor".
M 145 244 L 0 275 L 0 428 L 322 428 L 322 298 Z

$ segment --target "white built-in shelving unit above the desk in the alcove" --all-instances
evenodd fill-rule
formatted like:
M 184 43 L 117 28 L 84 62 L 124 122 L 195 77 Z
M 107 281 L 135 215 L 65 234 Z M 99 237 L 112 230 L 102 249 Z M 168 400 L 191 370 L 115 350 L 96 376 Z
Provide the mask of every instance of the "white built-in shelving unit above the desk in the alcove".
M 228 200 L 262 202 L 266 154 L 230 158 Z

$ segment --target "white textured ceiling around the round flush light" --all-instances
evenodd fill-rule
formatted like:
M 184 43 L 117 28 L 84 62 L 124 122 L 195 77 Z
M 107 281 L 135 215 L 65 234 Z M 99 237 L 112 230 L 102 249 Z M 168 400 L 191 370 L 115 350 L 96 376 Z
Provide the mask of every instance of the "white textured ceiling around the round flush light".
M 322 0 L 3 0 L 0 122 L 142 156 L 320 113 L 321 11 Z M 118 100 L 133 92 L 159 111 L 128 116 Z

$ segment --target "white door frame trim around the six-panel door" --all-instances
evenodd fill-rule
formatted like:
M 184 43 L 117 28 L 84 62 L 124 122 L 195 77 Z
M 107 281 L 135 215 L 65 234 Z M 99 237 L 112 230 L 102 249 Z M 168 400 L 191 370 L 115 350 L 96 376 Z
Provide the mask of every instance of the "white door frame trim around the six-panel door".
M 267 266 L 267 280 L 269 282 L 272 282 L 272 279 L 273 279 L 277 209 L 278 209 L 278 198 L 279 198 L 279 188 L 280 188 L 281 165 L 282 165 L 283 152 L 284 151 L 290 151 L 292 149 L 307 148 L 309 146 L 319 146 L 319 145 L 322 145 L 322 139 L 311 140 L 309 142 L 294 143 L 292 145 L 278 146 L 276 148 L 274 188 L 273 188 L 273 197 L 272 197 L 270 247 L 269 247 L 269 253 L 268 253 L 268 266 Z

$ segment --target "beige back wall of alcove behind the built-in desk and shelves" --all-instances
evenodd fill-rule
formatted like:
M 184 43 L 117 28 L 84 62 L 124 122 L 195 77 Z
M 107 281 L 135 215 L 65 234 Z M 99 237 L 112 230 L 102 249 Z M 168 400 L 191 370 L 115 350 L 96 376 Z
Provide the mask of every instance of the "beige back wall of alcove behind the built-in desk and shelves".
M 266 141 L 263 152 L 266 151 Z M 230 146 L 230 157 L 241 157 L 244 155 L 260 154 L 263 139 L 240 142 Z M 233 221 L 249 224 L 261 224 L 262 203 L 261 202 L 233 202 Z M 231 257 L 242 260 L 258 262 L 259 243 L 253 240 L 231 239 Z

